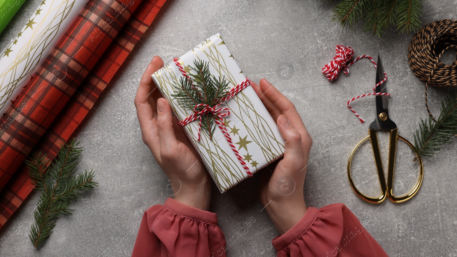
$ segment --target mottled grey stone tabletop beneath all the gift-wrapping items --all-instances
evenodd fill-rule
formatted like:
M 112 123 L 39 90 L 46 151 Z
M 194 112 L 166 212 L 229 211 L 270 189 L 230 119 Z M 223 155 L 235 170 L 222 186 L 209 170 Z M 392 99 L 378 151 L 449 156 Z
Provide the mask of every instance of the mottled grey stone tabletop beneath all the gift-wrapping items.
M 21 29 L 41 0 L 28 0 L 0 36 L 3 48 Z M 425 0 L 424 24 L 456 19 L 455 0 Z M 382 205 L 364 202 L 346 176 L 351 150 L 374 118 L 374 99 L 352 106 L 369 122 L 361 124 L 345 106 L 348 99 L 371 92 L 374 69 L 367 59 L 329 82 L 321 72 L 335 54 L 335 45 L 351 46 L 355 55 L 383 57 L 389 75 L 392 119 L 399 134 L 412 140 L 420 118 L 426 118 L 424 84 L 409 69 L 407 48 L 412 33 L 391 29 L 383 39 L 362 32 L 341 32 L 329 16 L 332 4 L 316 0 L 168 0 L 103 92 L 74 137 L 85 147 L 78 171 L 94 169 L 100 186 L 74 204 L 73 216 L 58 220 L 55 232 L 40 249 L 27 234 L 38 195 L 33 194 L 1 230 L 1 256 L 128 256 L 144 210 L 164 203 L 171 194 L 167 177 L 143 144 L 133 98 L 143 70 L 154 55 L 166 62 L 203 39 L 220 32 L 246 75 L 266 78 L 296 106 L 313 137 L 305 182 L 308 206 L 345 203 L 389 256 L 457 255 L 457 144 L 452 141 L 434 158 L 425 158 L 425 177 L 409 202 Z M 453 57 L 448 56 L 447 61 Z M 445 58 L 446 59 L 446 58 Z M 430 89 L 437 113 L 446 91 Z M 380 141 L 387 152 L 387 134 Z M 356 155 L 354 179 L 363 192 L 377 195 L 379 184 L 370 146 Z M 395 192 L 406 193 L 417 179 L 417 164 L 399 144 Z M 385 155 L 384 155 L 385 156 Z M 387 157 L 384 157 L 386 160 Z M 227 239 L 228 256 L 275 256 L 271 239 L 278 235 L 258 197 L 260 174 L 227 193 L 212 188 L 211 211 Z M 241 237 L 245 221 L 255 218 Z

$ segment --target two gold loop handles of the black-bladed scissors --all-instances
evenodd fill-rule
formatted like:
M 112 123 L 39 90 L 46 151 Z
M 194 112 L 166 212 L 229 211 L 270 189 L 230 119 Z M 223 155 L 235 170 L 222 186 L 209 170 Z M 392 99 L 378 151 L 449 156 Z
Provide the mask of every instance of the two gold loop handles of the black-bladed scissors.
M 349 179 L 349 183 L 351 183 L 351 187 L 354 190 L 354 192 L 360 198 L 364 199 L 367 202 L 370 202 L 370 203 L 382 203 L 386 199 L 386 196 L 387 196 L 392 202 L 401 203 L 401 202 L 409 200 L 410 198 L 412 198 L 419 191 L 420 185 L 422 184 L 423 175 L 424 175 L 424 168 L 422 166 L 422 159 L 420 158 L 420 156 L 418 156 L 418 158 L 417 158 L 419 160 L 419 165 L 420 165 L 419 166 L 419 169 L 420 169 L 419 181 L 417 182 L 417 184 L 414 187 L 413 191 L 411 191 L 410 193 L 408 193 L 408 194 L 406 194 L 406 195 L 404 195 L 402 197 L 395 197 L 393 195 L 393 174 L 394 174 L 394 168 L 395 168 L 395 153 L 396 153 L 396 149 L 397 149 L 397 139 L 398 138 L 402 139 L 406 144 L 409 145 L 409 147 L 414 152 L 416 152 L 416 150 L 414 149 L 414 146 L 408 140 L 406 140 L 403 137 L 399 136 L 397 134 L 397 132 L 398 132 L 398 129 L 392 129 L 390 131 L 387 187 L 386 187 L 386 181 L 385 181 L 385 178 L 384 178 L 383 164 L 382 164 L 382 161 L 381 161 L 381 153 L 379 151 L 379 144 L 378 144 L 378 141 L 377 141 L 377 135 L 376 135 L 376 130 L 375 129 L 368 129 L 369 135 L 366 138 L 362 139 L 356 145 L 354 150 L 352 150 L 352 152 L 351 152 L 351 156 L 349 157 L 349 161 L 347 163 L 347 176 L 348 176 L 348 179 Z M 382 195 L 380 197 L 378 197 L 378 198 L 368 197 L 368 196 L 364 195 L 363 193 L 361 193 L 356 188 L 356 186 L 354 185 L 354 182 L 352 181 L 352 176 L 351 176 L 351 161 L 352 161 L 352 157 L 354 156 L 354 153 L 356 152 L 357 148 L 363 142 L 365 142 L 365 140 L 367 140 L 367 139 L 371 139 L 373 155 L 374 155 L 374 159 L 375 159 L 375 163 L 376 163 L 376 169 L 377 169 L 377 173 L 378 173 L 378 177 L 379 177 L 379 183 L 381 185 L 381 190 L 382 190 Z

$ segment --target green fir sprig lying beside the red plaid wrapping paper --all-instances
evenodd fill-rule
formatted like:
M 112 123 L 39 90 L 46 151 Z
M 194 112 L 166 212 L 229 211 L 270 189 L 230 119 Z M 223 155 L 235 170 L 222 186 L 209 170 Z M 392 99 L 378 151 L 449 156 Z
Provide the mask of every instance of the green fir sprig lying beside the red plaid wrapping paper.
M 35 224 L 29 234 L 35 247 L 48 240 L 60 215 L 73 214 L 74 209 L 70 209 L 71 202 L 79 199 L 82 191 L 94 190 L 97 186 L 93 181 L 94 171 L 86 170 L 77 176 L 73 174 L 83 151 L 82 147 L 78 146 L 79 143 L 72 140 L 69 145 L 65 144 L 49 166 L 46 155 L 41 152 L 34 155 L 31 161 L 26 161 L 35 191 L 41 193 L 37 209 L 33 213 Z

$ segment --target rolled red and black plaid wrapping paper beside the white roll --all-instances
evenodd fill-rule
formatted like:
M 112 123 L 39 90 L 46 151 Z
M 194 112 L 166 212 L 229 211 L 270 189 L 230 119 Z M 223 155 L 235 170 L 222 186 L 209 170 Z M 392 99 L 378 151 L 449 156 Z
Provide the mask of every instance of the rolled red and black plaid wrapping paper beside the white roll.
M 140 0 L 91 0 L 0 121 L 0 189 L 32 148 Z

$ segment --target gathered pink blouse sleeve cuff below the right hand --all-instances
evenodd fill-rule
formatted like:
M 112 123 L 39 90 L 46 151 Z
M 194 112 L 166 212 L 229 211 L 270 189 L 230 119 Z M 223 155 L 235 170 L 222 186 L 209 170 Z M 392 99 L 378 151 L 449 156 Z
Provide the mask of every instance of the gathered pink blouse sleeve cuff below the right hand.
M 309 207 L 295 226 L 271 242 L 278 257 L 388 256 L 342 203 Z

